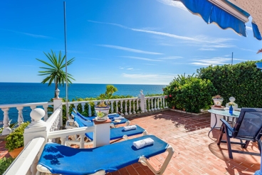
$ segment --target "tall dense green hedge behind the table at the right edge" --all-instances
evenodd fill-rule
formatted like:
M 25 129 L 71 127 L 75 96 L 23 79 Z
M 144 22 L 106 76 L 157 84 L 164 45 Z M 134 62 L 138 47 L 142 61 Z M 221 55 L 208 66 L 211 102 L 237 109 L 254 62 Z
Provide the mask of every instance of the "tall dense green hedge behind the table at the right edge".
M 217 94 L 224 97 L 223 105 L 229 102 L 229 97 L 235 97 L 239 107 L 262 107 L 262 73 L 255 63 L 257 61 L 210 65 L 197 70 L 197 73 L 199 78 L 213 83 Z

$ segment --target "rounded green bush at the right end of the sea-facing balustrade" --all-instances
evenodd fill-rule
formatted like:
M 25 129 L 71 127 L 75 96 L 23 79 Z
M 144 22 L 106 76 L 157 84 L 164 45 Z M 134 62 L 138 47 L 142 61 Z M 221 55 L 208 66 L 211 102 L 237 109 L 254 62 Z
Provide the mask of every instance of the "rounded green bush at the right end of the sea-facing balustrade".
M 210 80 L 194 75 L 179 75 L 164 90 L 169 107 L 199 113 L 201 109 L 209 109 L 212 96 L 216 93 Z

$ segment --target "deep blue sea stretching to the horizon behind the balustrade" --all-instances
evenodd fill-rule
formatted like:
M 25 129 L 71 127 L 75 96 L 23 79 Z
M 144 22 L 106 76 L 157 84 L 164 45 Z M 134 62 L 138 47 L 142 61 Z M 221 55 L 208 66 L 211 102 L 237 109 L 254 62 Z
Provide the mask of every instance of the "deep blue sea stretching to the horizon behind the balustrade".
M 72 101 L 77 97 L 98 97 L 105 92 L 107 84 L 83 84 L 73 83 L 68 86 L 68 100 Z M 117 88 L 114 95 L 132 95 L 137 97 L 140 90 L 147 94 L 162 94 L 162 88 L 167 85 L 121 85 L 113 84 Z M 66 97 L 66 86 L 59 86 L 59 97 Z M 0 105 L 31 103 L 31 102 L 49 102 L 55 94 L 55 85 L 42 83 L 0 83 Z M 30 107 L 23 108 L 23 120 L 31 121 Z M 18 110 L 10 108 L 9 120 L 11 123 L 17 122 Z M 0 125 L 4 119 L 4 112 L 0 110 Z

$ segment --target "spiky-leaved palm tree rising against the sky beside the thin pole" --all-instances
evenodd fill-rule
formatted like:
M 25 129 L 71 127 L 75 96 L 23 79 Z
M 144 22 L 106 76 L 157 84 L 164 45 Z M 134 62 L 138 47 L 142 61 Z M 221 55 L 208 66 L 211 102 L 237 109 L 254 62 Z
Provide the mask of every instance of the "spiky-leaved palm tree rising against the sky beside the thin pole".
M 63 71 L 63 68 L 66 67 L 66 63 L 64 63 L 64 60 L 66 59 L 66 55 L 64 55 L 62 58 L 62 53 L 60 51 L 57 58 L 56 53 L 54 53 L 52 50 L 51 50 L 51 54 L 50 53 L 44 53 L 44 54 L 46 55 L 48 60 L 51 61 L 51 63 L 36 58 L 36 60 L 39 60 L 42 63 L 49 66 L 48 68 L 40 67 L 44 70 L 38 71 L 38 73 L 41 73 L 39 75 L 47 75 L 47 77 L 43 79 L 41 83 L 45 84 L 48 82 L 48 86 L 50 86 L 52 83 L 55 83 L 56 84 L 55 90 L 56 90 L 58 88 L 58 84 L 64 85 L 66 81 L 66 73 Z M 75 58 L 71 58 L 70 60 L 68 60 L 67 65 L 72 64 L 74 60 Z M 71 80 L 75 80 L 75 79 L 73 79 L 72 75 L 68 73 L 68 83 L 72 83 Z M 56 97 L 56 92 L 54 97 Z

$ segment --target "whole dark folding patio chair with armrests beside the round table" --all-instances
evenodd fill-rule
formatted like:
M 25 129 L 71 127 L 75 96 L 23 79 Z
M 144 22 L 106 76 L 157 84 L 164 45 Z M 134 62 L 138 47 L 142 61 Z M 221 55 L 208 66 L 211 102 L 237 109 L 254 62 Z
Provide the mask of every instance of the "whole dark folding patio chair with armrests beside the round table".
M 224 119 L 221 119 L 221 122 L 223 122 L 223 124 L 221 126 L 221 132 L 216 144 L 220 145 L 221 142 L 226 142 L 230 159 L 233 159 L 232 152 L 256 156 L 261 155 L 254 152 L 232 150 L 231 144 L 241 144 L 241 147 L 246 149 L 250 141 L 258 142 L 258 149 L 261 153 L 262 108 L 243 107 L 235 127 L 231 127 L 231 125 Z M 222 140 L 224 133 L 226 133 L 226 140 Z M 240 139 L 240 142 L 231 142 L 231 138 Z M 246 142 L 243 142 L 243 140 Z

